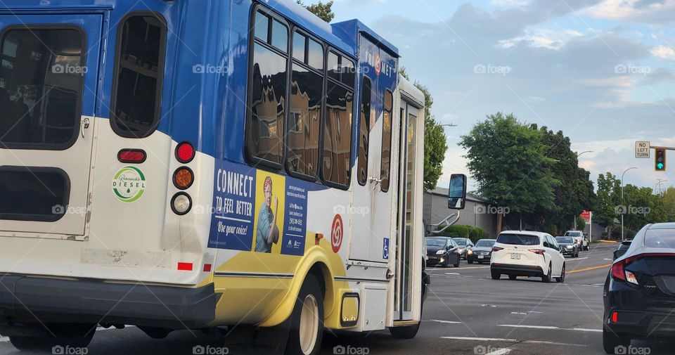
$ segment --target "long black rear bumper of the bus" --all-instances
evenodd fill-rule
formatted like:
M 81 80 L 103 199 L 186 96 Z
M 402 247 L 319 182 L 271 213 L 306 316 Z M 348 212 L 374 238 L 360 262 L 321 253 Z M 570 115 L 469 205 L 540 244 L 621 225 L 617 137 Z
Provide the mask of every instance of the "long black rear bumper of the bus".
M 214 320 L 213 284 L 201 288 L 0 276 L 0 323 L 108 323 L 203 328 Z M 36 319 L 37 318 L 37 319 Z M 39 322 L 38 322 L 39 320 Z

